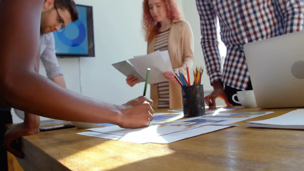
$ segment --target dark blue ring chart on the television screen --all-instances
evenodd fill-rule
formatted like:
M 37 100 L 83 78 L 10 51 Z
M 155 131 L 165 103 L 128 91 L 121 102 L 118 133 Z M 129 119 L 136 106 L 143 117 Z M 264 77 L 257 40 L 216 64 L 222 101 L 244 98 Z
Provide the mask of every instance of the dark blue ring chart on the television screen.
M 57 36 L 58 39 L 65 45 L 69 47 L 76 47 L 82 44 L 82 42 L 85 40 L 86 36 L 86 30 L 85 30 L 85 25 L 78 19 L 75 23 L 78 28 L 78 36 L 75 39 L 70 39 L 68 38 L 64 32 L 58 32 Z

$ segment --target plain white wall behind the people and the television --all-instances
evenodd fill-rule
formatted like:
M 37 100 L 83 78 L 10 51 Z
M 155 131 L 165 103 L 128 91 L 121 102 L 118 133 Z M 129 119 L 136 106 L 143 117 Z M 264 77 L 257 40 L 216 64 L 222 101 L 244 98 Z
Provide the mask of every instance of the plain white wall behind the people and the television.
M 80 60 L 58 58 L 67 88 L 78 93 L 82 90 L 85 96 L 115 104 L 122 104 L 141 96 L 144 83 L 129 87 L 125 81 L 126 77 L 111 64 L 133 58 L 134 55 L 146 54 L 147 43 L 141 30 L 142 0 L 75 0 L 75 2 L 93 6 L 96 55 L 95 58 L 83 57 Z M 195 66 L 204 65 L 195 0 L 177 0 L 177 3 L 194 32 Z M 40 74 L 46 76 L 42 63 L 40 63 Z M 212 90 L 206 72 L 202 83 L 206 91 Z M 205 96 L 209 93 L 205 92 Z M 150 97 L 150 86 L 147 96 Z M 220 100 L 217 100 L 217 103 L 222 105 Z M 12 114 L 14 123 L 22 122 L 13 111 Z M 41 117 L 41 120 L 46 119 L 48 118 Z

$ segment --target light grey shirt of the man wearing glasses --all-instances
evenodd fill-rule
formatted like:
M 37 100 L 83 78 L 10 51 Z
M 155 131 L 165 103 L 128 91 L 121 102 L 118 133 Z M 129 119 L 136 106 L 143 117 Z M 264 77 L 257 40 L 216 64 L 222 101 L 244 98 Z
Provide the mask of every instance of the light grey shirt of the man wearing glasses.
M 56 57 L 54 34 L 40 34 L 40 45 L 40 59 L 47 73 L 47 78 L 53 79 L 57 75 L 63 75 Z

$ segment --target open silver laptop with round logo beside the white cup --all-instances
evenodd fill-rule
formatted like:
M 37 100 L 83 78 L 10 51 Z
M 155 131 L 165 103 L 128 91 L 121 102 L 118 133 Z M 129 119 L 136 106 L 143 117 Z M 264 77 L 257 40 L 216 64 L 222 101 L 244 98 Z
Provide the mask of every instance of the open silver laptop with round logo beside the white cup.
M 257 106 L 304 107 L 304 31 L 244 45 Z

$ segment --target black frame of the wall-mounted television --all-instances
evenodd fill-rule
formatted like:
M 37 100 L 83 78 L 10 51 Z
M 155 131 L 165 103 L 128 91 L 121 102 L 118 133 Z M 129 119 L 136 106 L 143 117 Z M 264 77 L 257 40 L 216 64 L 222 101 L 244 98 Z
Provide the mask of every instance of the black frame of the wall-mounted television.
M 88 43 L 92 42 L 92 45 L 88 45 L 88 54 L 66 54 L 66 53 L 56 53 L 56 56 L 59 58 L 67 57 L 95 57 L 95 41 L 94 41 L 94 19 L 93 19 L 93 6 L 90 5 L 80 5 L 87 8 L 87 34 L 88 34 Z M 92 23 L 90 23 L 92 21 Z M 56 46 L 56 45 L 55 45 Z M 92 48 L 90 48 L 92 46 Z

